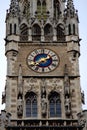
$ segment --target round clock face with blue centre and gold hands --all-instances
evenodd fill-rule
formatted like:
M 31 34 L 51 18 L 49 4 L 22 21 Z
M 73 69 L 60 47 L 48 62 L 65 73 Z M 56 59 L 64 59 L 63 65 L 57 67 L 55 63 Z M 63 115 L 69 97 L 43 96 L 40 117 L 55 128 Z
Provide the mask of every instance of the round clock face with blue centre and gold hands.
M 59 58 L 52 50 L 37 49 L 29 54 L 27 63 L 32 70 L 44 73 L 54 70 L 59 64 Z

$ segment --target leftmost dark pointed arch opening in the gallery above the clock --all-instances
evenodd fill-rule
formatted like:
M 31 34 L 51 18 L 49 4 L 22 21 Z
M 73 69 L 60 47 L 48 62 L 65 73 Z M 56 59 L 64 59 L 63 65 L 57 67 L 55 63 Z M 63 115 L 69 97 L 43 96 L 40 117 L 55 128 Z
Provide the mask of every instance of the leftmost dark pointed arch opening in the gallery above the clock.
M 20 41 L 28 41 L 28 27 L 25 23 L 20 26 Z

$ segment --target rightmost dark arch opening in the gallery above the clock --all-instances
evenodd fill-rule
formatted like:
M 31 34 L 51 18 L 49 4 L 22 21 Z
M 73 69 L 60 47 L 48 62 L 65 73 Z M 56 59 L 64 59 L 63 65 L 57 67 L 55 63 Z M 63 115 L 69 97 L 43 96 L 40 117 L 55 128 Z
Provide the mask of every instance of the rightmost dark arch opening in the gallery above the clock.
M 65 41 L 64 27 L 62 25 L 57 26 L 57 40 Z

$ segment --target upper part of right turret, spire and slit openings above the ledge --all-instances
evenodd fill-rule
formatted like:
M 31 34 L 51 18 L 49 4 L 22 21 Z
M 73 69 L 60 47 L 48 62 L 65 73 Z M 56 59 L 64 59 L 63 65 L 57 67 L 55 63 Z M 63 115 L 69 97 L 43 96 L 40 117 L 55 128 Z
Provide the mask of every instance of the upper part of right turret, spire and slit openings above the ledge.
M 73 5 L 73 0 L 67 0 L 67 8 L 65 10 L 66 35 L 74 35 L 78 38 L 78 14 Z M 76 38 L 76 40 L 77 40 Z

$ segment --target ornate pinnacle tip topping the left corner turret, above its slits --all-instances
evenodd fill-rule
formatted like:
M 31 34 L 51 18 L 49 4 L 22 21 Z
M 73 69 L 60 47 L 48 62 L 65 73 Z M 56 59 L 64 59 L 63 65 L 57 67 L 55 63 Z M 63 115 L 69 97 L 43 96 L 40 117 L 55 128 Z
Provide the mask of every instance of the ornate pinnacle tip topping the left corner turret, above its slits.
M 9 13 L 11 16 L 16 17 L 18 15 L 18 0 L 11 0 Z

